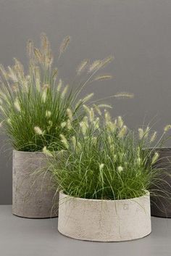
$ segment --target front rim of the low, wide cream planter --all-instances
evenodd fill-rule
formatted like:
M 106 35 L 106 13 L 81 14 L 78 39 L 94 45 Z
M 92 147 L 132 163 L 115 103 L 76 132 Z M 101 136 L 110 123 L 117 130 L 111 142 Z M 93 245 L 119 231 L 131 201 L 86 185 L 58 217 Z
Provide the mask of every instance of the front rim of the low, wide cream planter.
M 126 202 L 126 201 L 130 201 L 130 200 L 135 200 L 135 199 L 140 199 L 141 197 L 145 197 L 145 196 L 149 196 L 150 192 L 148 190 L 145 191 L 145 194 L 143 194 L 141 197 L 133 197 L 133 198 L 129 198 L 129 199 L 87 199 L 87 198 L 81 198 L 81 197 L 72 197 L 68 194 L 64 194 L 64 192 L 61 190 L 59 191 L 59 194 L 62 194 L 66 197 L 70 197 L 71 199 L 76 199 L 76 200 L 80 200 L 80 201 L 87 201 L 87 202 Z

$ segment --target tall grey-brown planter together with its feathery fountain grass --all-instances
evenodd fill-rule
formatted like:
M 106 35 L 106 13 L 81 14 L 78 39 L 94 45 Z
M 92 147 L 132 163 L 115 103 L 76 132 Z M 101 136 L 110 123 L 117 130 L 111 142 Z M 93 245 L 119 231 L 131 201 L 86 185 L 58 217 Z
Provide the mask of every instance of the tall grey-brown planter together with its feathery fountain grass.
M 69 43 L 67 36 L 59 46 L 58 61 Z M 64 149 L 60 134 L 66 138 L 72 136 L 73 128 L 76 130 L 83 118 L 83 104 L 93 97 L 91 93 L 80 99 L 80 92 L 94 80 L 112 78 L 98 72 L 112 62 L 113 57 L 94 62 L 84 59 L 71 86 L 64 85 L 59 78 L 45 34 L 41 36 L 40 48 L 28 41 L 28 57 L 28 73 L 17 59 L 12 67 L 0 66 L 1 130 L 14 148 L 12 212 L 22 217 L 46 218 L 56 216 L 57 207 L 51 212 L 54 191 L 42 150 Z M 33 176 L 36 170 L 45 173 Z

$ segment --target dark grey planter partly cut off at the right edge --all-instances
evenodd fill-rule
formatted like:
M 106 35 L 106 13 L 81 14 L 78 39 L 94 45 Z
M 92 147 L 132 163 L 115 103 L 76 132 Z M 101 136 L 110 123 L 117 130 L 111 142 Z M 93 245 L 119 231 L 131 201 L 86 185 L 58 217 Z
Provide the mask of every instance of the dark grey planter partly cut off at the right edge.
M 151 196 L 151 215 L 171 218 L 171 148 L 155 150 L 159 152 L 156 168 L 163 168 L 157 186 L 152 186 L 155 196 Z

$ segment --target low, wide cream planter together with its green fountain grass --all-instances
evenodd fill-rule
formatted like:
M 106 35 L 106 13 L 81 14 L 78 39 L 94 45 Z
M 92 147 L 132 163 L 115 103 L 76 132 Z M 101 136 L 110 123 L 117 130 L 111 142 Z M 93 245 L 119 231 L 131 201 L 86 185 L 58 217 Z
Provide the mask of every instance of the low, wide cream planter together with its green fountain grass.
M 128 131 L 122 117 L 88 113 L 72 139 L 61 135 L 67 154 L 51 164 L 60 191 L 59 232 L 75 239 L 125 241 L 151 232 L 149 189 L 159 177 L 157 153 Z M 102 121 L 102 122 L 101 122 Z M 148 132 L 150 133 L 150 132 Z M 149 134 L 151 142 L 154 134 Z M 59 186 L 58 186 L 59 185 Z

